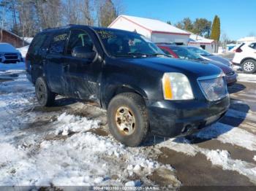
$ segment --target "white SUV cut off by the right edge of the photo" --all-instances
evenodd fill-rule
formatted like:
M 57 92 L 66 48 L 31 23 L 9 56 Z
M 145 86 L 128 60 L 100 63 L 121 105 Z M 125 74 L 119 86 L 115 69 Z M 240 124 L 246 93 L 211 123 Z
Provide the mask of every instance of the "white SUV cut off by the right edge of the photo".
M 241 66 L 241 69 L 248 74 L 256 71 L 256 42 L 242 43 L 236 50 L 233 64 Z

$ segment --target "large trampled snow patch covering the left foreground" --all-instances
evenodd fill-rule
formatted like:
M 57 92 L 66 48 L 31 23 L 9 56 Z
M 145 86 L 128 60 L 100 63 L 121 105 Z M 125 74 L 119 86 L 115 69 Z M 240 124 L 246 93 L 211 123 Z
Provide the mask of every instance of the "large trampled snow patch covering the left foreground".
M 0 186 L 155 185 L 148 175 L 158 168 L 173 171 L 148 158 L 143 148 L 89 132 L 99 128 L 97 120 L 33 112 L 38 107 L 34 87 L 15 66 L 0 73 L 17 74 L 0 83 Z

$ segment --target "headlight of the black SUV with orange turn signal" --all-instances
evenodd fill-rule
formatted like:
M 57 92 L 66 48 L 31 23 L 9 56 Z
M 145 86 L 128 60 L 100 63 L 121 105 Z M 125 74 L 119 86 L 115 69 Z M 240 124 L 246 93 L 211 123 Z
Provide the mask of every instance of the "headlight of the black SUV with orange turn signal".
M 162 77 L 162 90 L 166 100 L 189 100 L 194 98 L 189 79 L 181 73 L 165 73 Z

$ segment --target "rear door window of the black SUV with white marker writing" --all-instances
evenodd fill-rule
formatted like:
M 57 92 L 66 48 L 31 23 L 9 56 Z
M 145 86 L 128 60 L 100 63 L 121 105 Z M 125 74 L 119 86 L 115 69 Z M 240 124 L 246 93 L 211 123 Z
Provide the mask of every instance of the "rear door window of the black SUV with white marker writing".
M 56 34 L 50 42 L 50 54 L 64 54 L 65 45 L 67 41 L 67 33 Z

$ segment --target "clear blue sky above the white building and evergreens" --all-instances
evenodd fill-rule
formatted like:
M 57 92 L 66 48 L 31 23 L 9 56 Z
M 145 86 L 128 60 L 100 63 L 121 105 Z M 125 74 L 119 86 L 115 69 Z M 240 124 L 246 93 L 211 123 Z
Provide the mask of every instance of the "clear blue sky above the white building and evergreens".
M 256 0 L 124 0 L 124 15 L 148 17 L 172 24 L 189 17 L 220 17 L 221 34 L 237 40 L 256 36 Z

